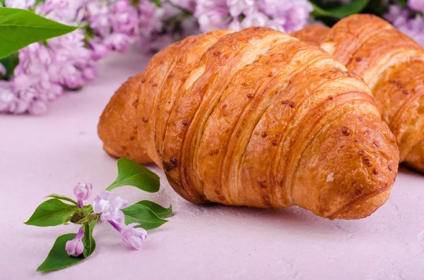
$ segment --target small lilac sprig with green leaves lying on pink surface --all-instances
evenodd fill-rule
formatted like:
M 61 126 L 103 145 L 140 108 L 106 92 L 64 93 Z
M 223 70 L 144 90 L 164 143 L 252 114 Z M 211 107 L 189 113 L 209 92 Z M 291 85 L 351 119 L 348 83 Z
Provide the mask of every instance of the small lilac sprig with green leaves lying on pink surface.
M 155 202 L 141 200 L 134 205 L 110 191 L 122 185 L 131 185 L 149 193 L 158 192 L 159 177 L 145 167 L 129 159 L 118 159 L 118 176 L 106 190 L 96 195 L 93 205 L 84 205 L 93 193 L 91 183 L 77 183 L 73 188 L 76 200 L 63 195 L 48 195 L 34 214 L 25 222 L 30 226 L 59 226 L 78 224 L 78 233 L 59 236 L 46 260 L 37 268 L 40 272 L 63 269 L 81 262 L 95 250 L 93 229 L 100 218 L 108 222 L 121 234 L 124 245 L 141 248 L 147 231 L 167 222 L 172 207 L 162 207 Z

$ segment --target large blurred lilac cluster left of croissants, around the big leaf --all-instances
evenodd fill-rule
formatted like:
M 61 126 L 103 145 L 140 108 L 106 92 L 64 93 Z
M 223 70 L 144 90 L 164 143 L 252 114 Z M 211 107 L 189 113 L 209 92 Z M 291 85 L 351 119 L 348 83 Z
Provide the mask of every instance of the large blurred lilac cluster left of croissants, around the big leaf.
M 6 0 L 6 7 L 30 8 L 67 25 L 80 25 L 67 35 L 21 49 L 12 77 L 0 63 L 0 113 L 43 114 L 47 102 L 76 90 L 96 77 L 95 61 L 109 51 L 162 30 L 161 8 L 148 0 Z

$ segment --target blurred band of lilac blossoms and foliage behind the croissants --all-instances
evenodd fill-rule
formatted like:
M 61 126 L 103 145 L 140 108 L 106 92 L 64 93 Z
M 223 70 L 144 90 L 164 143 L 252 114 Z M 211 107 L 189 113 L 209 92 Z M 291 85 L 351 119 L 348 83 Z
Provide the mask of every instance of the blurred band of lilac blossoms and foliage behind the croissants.
M 162 49 L 214 29 L 266 26 L 300 30 L 317 20 L 332 25 L 352 13 L 375 13 L 424 46 L 424 0 L 0 0 L 81 28 L 0 59 L 0 113 L 44 114 L 47 104 L 97 75 L 110 51 Z

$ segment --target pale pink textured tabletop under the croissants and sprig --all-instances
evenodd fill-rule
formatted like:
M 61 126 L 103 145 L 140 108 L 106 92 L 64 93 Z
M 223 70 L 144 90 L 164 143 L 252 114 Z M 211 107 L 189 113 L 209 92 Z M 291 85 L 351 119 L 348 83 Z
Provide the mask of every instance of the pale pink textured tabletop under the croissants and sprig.
M 98 224 L 97 250 L 59 272 L 35 272 L 57 236 L 75 225 L 25 226 L 42 197 L 72 195 L 77 181 L 100 192 L 116 177 L 102 151 L 98 117 L 147 58 L 114 56 L 100 78 L 52 104 L 41 117 L 0 116 L 0 279 L 424 279 L 424 176 L 401 169 L 389 201 L 359 221 L 329 221 L 296 207 L 278 211 L 199 206 L 178 197 L 165 176 L 158 194 L 114 190 L 130 202 L 172 204 L 175 214 L 128 250 Z M 92 197 L 93 199 L 93 197 Z M 92 201 L 90 200 L 90 202 Z

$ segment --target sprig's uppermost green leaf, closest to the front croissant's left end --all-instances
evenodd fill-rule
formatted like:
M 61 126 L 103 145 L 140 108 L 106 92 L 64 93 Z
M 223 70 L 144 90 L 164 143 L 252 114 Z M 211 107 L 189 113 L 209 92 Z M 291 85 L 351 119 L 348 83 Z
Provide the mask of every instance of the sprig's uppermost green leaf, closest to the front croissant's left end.
M 106 188 L 113 190 L 122 185 L 132 185 L 148 193 L 156 193 L 160 187 L 159 176 L 130 159 L 118 159 L 118 178 Z

